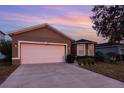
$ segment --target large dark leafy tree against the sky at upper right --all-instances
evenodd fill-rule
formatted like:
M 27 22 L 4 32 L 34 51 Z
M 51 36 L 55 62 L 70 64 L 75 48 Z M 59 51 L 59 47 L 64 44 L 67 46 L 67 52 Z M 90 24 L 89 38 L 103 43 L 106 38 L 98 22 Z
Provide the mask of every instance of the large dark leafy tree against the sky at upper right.
M 108 39 L 111 43 L 124 40 L 124 6 L 94 6 L 92 9 L 93 29 L 98 36 Z

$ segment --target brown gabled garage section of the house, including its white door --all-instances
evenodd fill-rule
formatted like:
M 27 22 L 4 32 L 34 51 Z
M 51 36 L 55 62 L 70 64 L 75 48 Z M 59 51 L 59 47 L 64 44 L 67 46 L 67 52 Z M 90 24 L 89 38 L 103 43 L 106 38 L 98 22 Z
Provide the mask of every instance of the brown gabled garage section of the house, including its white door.
M 49 24 L 24 28 L 9 34 L 12 37 L 13 64 L 65 62 L 71 53 L 72 39 Z

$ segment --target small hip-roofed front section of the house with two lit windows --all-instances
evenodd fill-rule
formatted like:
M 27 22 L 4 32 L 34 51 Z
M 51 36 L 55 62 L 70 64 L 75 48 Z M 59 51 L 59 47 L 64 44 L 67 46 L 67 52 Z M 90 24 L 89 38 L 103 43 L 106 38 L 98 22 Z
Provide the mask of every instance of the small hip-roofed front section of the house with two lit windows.
M 74 56 L 94 56 L 96 42 L 80 39 L 72 42 L 72 54 Z

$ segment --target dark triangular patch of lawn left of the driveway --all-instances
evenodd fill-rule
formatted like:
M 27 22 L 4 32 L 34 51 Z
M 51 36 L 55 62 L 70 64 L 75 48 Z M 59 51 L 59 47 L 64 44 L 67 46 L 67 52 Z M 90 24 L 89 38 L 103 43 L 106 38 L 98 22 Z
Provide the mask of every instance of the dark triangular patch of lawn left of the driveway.
M 18 65 L 12 65 L 11 62 L 0 62 L 0 84 L 2 84 L 17 67 Z

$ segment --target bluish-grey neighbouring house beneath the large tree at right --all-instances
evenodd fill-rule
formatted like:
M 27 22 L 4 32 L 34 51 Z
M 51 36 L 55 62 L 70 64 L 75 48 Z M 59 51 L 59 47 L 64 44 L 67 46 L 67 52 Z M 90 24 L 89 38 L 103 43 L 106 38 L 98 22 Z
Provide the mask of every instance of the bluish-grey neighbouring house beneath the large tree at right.
M 95 46 L 95 52 L 102 52 L 106 56 L 109 52 L 114 52 L 120 55 L 120 58 L 124 60 L 124 44 L 122 43 L 102 43 Z

